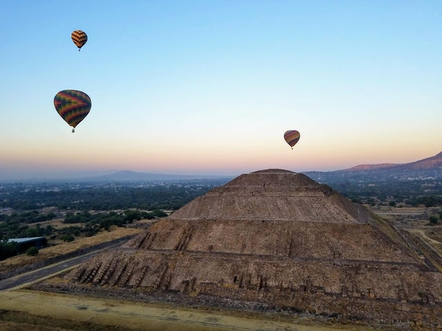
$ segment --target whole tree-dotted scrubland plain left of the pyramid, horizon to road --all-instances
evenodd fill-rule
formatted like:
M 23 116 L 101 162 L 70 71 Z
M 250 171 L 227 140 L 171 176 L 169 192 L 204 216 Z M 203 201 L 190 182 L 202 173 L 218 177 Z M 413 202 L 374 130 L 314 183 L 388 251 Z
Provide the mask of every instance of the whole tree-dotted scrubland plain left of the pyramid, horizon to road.
M 126 186 L 108 183 L 2 184 L 0 261 L 24 253 L 17 243 L 8 242 L 10 238 L 44 236 L 48 245 L 56 245 L 94 236 L 112 226 L 127 227 L 137 220 L 167 216 L 215 185 L 217 181 Z

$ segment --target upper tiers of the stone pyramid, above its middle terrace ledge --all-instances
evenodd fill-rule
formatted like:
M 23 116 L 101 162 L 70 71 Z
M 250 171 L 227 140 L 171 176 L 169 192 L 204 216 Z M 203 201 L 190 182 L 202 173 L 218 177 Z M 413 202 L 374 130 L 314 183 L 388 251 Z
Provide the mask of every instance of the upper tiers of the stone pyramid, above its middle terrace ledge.
M 366 223 L 369 214 L 302 173 L 269 169 L 244 174 L 195 198 L 171 218 Z

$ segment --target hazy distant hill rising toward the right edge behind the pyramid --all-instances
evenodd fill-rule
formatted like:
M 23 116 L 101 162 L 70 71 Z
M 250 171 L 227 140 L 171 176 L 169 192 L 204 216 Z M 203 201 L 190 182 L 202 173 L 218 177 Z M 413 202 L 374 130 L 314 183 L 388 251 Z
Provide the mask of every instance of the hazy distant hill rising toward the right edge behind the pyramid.
M 430 158 L 403 164 L 360 164 L 336 171 L 307 171 L 307 176 L 319 182 L 338 180 L 416 180 L 442 178 L 442 152 Z

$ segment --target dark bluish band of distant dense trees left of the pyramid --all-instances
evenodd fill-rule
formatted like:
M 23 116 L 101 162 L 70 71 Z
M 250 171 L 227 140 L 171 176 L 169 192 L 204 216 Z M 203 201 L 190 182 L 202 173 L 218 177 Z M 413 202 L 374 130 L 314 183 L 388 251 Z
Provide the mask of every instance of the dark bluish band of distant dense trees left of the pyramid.
M 176 210 L 200 196 L 214 185 L 174 184 L 152 187 L 90 187 L 42 190 L 35 186 L 4 186 L 0 190 L 0 207 L 35 210 L 42 207 L 75 210 L 115 210 L 137 208 L 143 210 Z M 49 187 L 50 188 L 50 187 Z

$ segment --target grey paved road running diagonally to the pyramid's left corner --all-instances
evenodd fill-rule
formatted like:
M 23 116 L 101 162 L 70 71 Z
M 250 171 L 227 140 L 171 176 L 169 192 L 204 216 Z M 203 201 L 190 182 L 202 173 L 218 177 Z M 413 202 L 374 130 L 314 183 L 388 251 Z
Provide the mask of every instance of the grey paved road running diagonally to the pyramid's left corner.
M 119 245 L 119 244 L 117 244 Z M 106 247 L 108 248 L 108 247 Z M 12 288 L 23 287 L 24 285 L 29 285 L 35 281 L 39 281 L 42 278 L 48 278 L 54 276 L 59 272 L 63 272 L 66 269 L 73 269 L 75 266 L 88 261 L 94 255 L 101 252 L 103 249 L 97 249 L 96 251 L 83 254 L 81 256 L 76 256 L 74 258 L 68 258 L 65 261 L 59 263 L 54 263 L 52 265 L 46 265 L 40 269 L 35 269 L 32 272 L 26 272 L 24 274 L 19 274 L 10 278 L 6 278 L 0 281 L 0 291 L 9 290 Z

